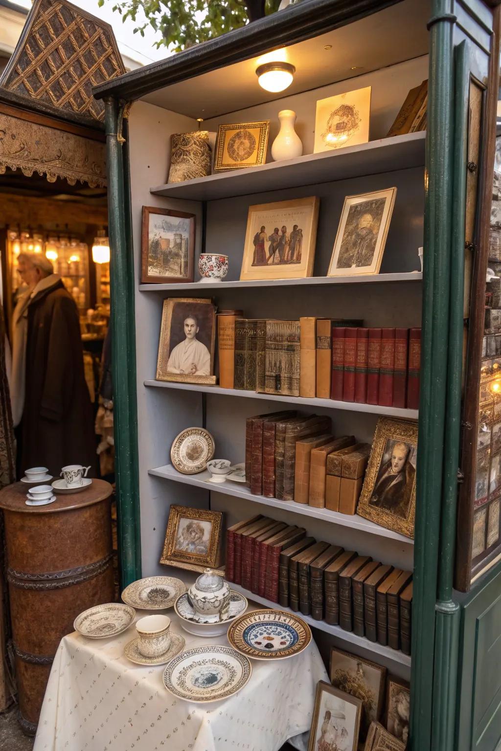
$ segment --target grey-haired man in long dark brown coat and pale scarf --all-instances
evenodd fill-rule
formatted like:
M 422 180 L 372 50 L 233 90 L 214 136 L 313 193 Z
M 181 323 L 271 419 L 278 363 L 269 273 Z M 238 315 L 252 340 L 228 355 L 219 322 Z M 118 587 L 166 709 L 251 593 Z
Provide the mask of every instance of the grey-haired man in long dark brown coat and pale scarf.
M 96 442 L 77 306 L 47 258 L 20 254 L 18 261 L 29 291 L 17 315 L 27 323 L 21 469 L 46 466 L 59 477 L 62 466 L 83 464 L 95 476 Z

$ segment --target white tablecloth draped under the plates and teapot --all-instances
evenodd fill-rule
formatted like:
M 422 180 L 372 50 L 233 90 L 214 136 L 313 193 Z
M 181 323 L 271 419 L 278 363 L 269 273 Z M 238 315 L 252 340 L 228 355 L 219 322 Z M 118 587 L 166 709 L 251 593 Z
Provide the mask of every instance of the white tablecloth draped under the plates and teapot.
M 148 614 L 137 611 L 137 618 Z M 226 635 L 187 634 L 174 611 L 168 614 L 171 629 L 186 638 L 186 649 L 228 644 Z M 288 659 L 251 660 L 252 677 L 242 691 L 225 701 L 196 704 L 164 689 L 164 665 L 143 668 L 122 656 L 136 635 L 130 626 L 115 638 L 73 633 L 62 639 L 34 751 L 277 751 L 309 731 L 316 684 L 328 680 L 314 641 Z M 305 736 L 292 743 L 304 748 Z

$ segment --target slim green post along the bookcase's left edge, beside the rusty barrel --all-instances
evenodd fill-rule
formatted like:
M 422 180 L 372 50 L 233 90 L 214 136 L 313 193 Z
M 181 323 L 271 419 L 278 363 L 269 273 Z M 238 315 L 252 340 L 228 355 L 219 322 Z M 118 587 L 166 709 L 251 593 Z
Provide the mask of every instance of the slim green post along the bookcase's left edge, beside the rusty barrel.
M 124 160 L 121 136 L 125 102 L 107 98 L 105 104 L 116 507 L 123 588 L 140 578 L 141 572 L 134 258 L 130 244 L 131 200 L 127 160 Z

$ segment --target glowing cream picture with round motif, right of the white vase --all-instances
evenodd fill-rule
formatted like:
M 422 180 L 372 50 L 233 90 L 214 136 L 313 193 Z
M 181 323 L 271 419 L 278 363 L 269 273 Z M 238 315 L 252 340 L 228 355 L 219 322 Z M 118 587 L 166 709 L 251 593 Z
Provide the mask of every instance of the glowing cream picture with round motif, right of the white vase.
M 313 153 L 369 140 L 370 86 L 317 101 Z

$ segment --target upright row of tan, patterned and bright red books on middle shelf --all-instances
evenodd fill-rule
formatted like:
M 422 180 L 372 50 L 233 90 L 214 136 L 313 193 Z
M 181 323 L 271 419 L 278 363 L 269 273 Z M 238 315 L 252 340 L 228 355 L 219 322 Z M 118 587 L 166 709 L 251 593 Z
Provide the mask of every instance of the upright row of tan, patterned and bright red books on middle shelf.
M 222 388 L 418 409 L 420 328 L 222 314 L 218 329 Z

